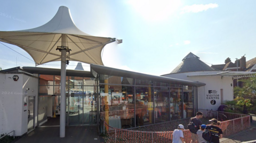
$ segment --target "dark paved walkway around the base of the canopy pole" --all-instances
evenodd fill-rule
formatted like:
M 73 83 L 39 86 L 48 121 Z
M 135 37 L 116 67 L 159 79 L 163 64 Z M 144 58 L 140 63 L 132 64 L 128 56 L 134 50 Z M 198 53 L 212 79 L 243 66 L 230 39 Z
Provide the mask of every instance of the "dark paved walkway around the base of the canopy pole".
M 100 143 L 98 128 L 95 126 L 66 127 L 66 137 L 60 138 L 60 127 L 38 127 L 15 143 L 66 143 L 66 142 L 92 142 Z

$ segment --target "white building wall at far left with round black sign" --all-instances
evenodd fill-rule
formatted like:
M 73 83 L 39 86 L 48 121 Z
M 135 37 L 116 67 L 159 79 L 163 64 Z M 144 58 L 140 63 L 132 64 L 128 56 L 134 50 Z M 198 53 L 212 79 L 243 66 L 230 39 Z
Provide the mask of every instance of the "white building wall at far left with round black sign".
M 13 80 L 18 75 L 18 81 Z M 30 88 L 26 92 L 26 88 Z M 0 73 L 0 133 L 15 130 L 15 136 L 27 132 L 28 110 L 24 110 L 24 97 L 38 93 L 38 79 L 25 74 Z M 34 89 L 34 92 L 32 91 Z M 37 111 L 37 108 L 35 108 Z M 35 114 L 36 115 L 36 114 Z

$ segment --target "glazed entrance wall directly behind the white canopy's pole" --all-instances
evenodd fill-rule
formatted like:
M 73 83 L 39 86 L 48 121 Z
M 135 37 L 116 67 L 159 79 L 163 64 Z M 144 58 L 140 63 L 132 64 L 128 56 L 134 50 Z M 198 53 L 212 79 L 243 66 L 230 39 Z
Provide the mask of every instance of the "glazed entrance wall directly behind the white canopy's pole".
M 66 122 L 68 125 L 97 124 L 98 80 L 66 77 Z M 60 76 L 39 75 L 39 95 L 53 95 L 53 112 L 59 115 Z

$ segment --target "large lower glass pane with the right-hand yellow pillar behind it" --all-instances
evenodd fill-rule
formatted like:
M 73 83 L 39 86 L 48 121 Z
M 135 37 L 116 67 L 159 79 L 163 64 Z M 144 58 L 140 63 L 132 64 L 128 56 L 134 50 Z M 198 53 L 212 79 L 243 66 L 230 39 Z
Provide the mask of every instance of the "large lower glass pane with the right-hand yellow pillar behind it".
M 136 125 L 154 124 L 153 87 L 136 87 Z

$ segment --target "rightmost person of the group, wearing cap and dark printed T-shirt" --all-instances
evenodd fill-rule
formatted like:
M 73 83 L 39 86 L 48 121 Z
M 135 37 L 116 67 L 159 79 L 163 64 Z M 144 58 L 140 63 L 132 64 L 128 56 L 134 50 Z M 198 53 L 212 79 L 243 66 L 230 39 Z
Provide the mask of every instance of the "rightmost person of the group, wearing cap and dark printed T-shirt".
M 211 137 L 212 137 L 211 142 L 219 143 L 223 134 L 222 130 L 219 127 L 217 127 L 217 125 L 220 125 L 220 121 L 218 121 L 217 119 L 212 119 L 212 120 L 209 120 L 209 122 L 211 123 L 211 125 L 207 125 L 205 129 L 209 130 L 211 133 Z

